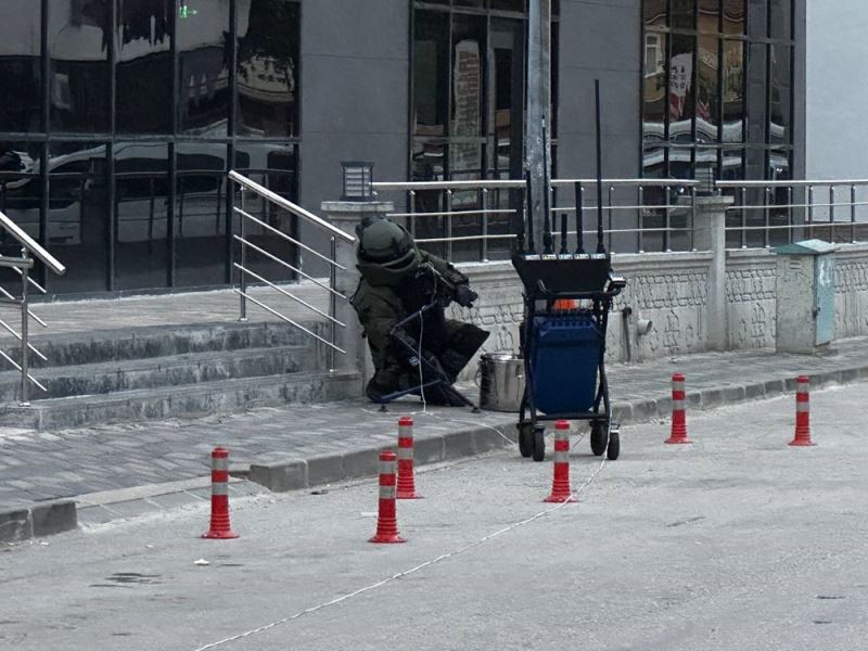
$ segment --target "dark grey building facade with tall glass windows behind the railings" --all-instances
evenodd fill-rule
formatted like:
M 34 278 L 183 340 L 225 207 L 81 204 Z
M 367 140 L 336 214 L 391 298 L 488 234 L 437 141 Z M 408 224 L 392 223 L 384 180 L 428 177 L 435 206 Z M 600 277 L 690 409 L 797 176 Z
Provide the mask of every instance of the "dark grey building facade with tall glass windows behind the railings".
M 605 176 L 799 176 L 804 11 L 804 0 L 553 0 L 556 174 L 596 173 L 600 78 Z M 226 285 L 239 228 L 229 169 L 314 210 L 340 195 L 342 161 L 373 161 L 379 180 L 521 177 L 526 56 L 526 0 L 3 0 L 0 210 L 69 267 L 37 269 L 51 293 Z M 420 193 L 417 209 L 443 201 Z M 260 202 L 246 209 L 308 234 Z M 417 228 L 431 237 L 446 222 Z M 511 228 L 503 214 L 488 221 L 490 233 Z M 478 229 L 451 224 L 456 237 Z M 248 238 L 293 257 L 267 229 Z M 499 242 L 488 257 L 507 255 Z M 452 255 L 478 258 L 476 246 Z

